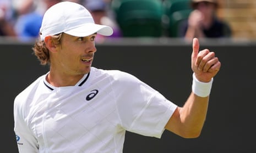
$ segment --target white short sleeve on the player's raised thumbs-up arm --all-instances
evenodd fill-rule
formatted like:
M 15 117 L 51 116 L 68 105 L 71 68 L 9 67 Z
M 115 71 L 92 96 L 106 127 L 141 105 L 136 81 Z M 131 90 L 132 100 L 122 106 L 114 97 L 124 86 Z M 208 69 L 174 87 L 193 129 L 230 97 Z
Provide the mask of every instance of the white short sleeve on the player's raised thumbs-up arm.
M 138 78 L 118 78 L 117 108 L 122 126 L 130 132 L 160 138 L 177 105 Z

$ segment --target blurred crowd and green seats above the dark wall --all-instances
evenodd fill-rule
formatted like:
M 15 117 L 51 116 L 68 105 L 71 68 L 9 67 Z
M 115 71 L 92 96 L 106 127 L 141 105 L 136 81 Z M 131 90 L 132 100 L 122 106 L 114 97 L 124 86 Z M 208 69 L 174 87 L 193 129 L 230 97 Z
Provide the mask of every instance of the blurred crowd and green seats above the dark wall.
M 45 11 L 62 1 L 64 0 L 0 0 L 0 36 L 13 37 L 22 42 L 34 41 L 39 36 Z M 217 19 L 218 4 L 215 0 L 70 1 L 84 5 L 97 24 L 111 26 L 114 33 L 110 38 L 164 36 L 191 39 L 231 37 L 232 34 L 228 24 Z M 175 11 L 171 12 L 174 2 L 183 2 L 181 5 L 186 2 L 188 5 L 182 8 L 177 5 Z M 96 41 L 103 42 L 105 39 L 97 36 Z

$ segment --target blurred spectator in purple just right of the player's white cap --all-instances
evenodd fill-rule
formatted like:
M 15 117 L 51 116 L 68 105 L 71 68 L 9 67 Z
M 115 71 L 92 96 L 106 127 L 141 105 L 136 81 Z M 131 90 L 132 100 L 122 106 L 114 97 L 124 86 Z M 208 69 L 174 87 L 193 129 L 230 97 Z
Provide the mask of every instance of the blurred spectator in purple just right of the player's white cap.
M 108 15 L 108 3 L 104 0 L 86 0 L 84 2 L 81 2 L 85 8 L 87 8 L 92 18 L 94 18 L 94 21 L 96 24 L 102 24 L 112 27 L 113 29 L 113 35 L 108 36 L 107 38 L 111 37 L 121 37 L 121 30 L 119 29 L 119 26 L 117 25 L 115 20 L 112 20 L 111 16 Z M 97 35 L 96 42 L 103 42 L 105 40 L 104 36 Z

